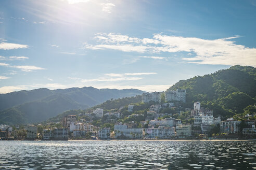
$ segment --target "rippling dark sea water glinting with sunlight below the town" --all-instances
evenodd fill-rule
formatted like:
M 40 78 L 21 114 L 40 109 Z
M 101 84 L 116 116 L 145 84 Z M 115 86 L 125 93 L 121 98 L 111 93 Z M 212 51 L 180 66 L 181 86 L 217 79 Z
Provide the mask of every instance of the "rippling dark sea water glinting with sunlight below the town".
M 256 169 L 255 141 L 0 141 L 0 169 Z

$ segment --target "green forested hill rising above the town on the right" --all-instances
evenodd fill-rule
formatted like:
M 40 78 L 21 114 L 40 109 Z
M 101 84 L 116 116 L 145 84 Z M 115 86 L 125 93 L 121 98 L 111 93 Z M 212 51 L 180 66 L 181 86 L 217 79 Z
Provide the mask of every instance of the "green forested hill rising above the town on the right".
M 194 102 L 228 117 L 241 114 L 255 104 L 256 68 L 235 65 L 210 75 L 180 80 L 168 90 L 186 89 L 185 107 Z

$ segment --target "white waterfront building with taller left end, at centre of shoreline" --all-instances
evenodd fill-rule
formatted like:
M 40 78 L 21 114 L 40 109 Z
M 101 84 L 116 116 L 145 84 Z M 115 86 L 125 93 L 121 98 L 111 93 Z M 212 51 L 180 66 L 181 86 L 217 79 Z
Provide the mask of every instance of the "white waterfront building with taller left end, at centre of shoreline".
M 116 138 L 125 136 L 128 138 L 142 138 L 143 129 L 142 128 L 127 128 L 126 124 L 115 124 L 114 134 Z

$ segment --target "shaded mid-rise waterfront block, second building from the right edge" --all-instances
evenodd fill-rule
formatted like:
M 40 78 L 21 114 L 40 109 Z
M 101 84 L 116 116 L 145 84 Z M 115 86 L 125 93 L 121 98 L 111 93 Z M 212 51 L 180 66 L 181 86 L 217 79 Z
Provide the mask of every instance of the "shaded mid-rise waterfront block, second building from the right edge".
M 238 125 L 241 121 L 234 120 L 233 118 L 221 121 L 221 133 L 238 133 Z

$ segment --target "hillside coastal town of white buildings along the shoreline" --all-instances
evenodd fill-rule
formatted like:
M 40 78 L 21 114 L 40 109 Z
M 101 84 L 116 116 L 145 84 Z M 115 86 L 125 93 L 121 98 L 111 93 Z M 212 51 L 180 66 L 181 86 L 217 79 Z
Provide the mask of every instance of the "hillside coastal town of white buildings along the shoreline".
M 164 102 L 163 102 L 164 101 Z M 134 111 L 135 104 L 110 111 L 96 108 L 91 112 L 67 115 L 58 126 L 0 125 L 1 140 L 68 140 L 68 139 L 230 139 L 255 138 L 256 121 L 248 116 L 244 122 L 221 116 L 194 103 L 183 108 L 186 90 L 142 94 L 148 108 Z M 108 111 L 108 112 L 107 112 Z M 188 116 L 177 119 L 182 114 Z M 85 119 L 84 119 L 85 118 Z M 99 120 L 104 124 L 97 125 Z M 47 125 L 45 125 L 47 126 Z M 44 127 L 45 127 L 44 126 Z

